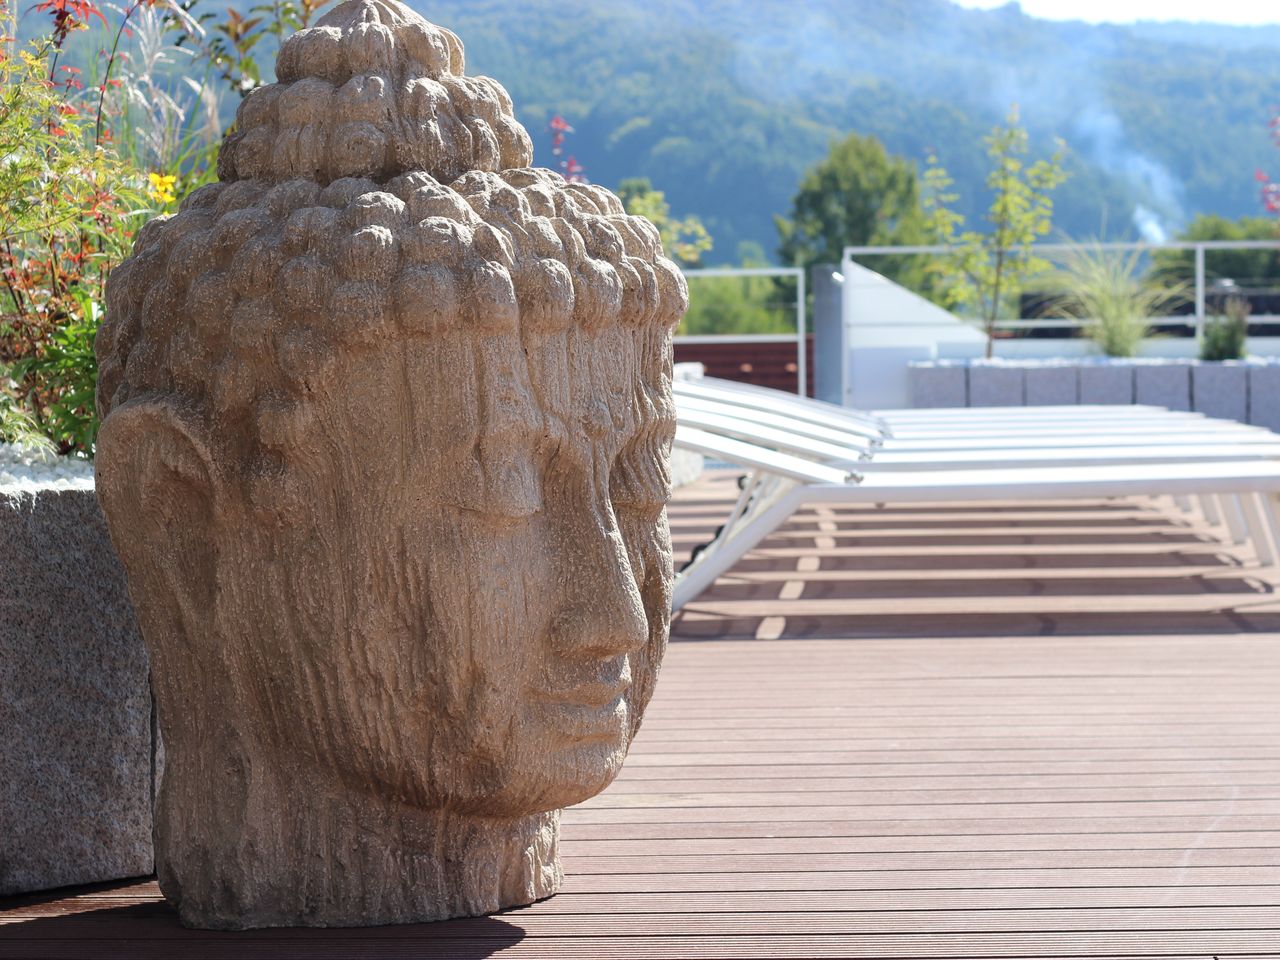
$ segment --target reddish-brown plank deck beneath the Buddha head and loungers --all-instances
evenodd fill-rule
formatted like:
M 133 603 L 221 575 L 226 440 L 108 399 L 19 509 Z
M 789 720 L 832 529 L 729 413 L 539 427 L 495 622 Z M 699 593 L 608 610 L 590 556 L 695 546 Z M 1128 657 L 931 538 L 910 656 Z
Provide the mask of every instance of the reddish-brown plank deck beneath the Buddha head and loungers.
M 681 493 L 680 549 L 731 492 Z M 677 621 L 559 896 L 211 934 L 137 882 L 0 904 L 0 956 L 1280 956 L 1280 602 L 1244 559 L 1147 500 L 808 513 Z

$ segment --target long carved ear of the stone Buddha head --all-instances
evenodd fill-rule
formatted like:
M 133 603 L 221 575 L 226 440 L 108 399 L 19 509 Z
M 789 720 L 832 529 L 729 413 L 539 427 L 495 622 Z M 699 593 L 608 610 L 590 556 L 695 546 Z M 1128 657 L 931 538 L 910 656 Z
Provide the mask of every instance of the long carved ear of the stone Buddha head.
M 138 398 L 111 411 L 97 439 L 97 497 L 152 655 L 166 637 L 195 640 L 212 612 L 218 485 L 193 422 Z

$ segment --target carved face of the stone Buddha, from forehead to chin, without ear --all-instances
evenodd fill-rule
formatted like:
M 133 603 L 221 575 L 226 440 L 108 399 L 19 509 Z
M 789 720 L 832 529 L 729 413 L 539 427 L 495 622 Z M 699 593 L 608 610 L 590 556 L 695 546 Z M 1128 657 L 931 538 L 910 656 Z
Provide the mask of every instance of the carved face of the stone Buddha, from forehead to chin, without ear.
M 241 677 L 244 708 L 296 705 L 271 724 L 282 749 L 483 815 L 613 778 L 669 607 L 652 467 L 669 413 L 635 338 L 570 330 L 530 361 L 513 333 L 460 332 L 334 367 L 303 448 L 219 535 L 243 643 L 297 644 Z M 568 390 L 535 387 L 553 372 Z

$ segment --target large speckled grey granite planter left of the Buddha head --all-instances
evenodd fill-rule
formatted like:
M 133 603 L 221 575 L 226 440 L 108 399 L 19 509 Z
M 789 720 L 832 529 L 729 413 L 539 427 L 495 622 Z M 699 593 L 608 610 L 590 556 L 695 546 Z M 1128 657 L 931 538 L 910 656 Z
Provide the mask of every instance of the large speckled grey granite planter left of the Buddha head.
M 147 654 L 97 499 L 0 488 L 0 895 L 147 874 Z

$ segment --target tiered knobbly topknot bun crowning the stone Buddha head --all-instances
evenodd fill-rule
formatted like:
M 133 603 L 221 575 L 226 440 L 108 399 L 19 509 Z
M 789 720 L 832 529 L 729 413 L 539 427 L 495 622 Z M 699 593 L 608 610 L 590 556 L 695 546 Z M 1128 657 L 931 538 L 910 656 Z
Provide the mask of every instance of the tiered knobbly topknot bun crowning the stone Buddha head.
M 511 97 L 465 77 L 462 42 L 396 0 L 347 0 L 284 41 L 278 83 L 244 97 L 218 157 L 223 180 L 445 183 L 532 161 Z

